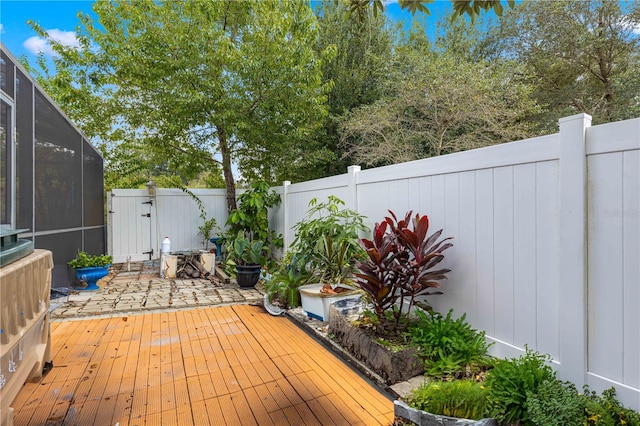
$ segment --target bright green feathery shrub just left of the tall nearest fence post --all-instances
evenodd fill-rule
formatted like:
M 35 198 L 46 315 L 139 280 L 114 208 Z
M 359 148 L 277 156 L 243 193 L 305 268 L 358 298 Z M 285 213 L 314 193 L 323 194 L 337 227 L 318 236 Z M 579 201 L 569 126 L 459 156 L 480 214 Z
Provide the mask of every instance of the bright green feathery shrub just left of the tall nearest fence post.
M 487 375 L 489 413 L 499 422 L 533 425 L 527 411 L 527 397 L 536 395 L 538 387 L 556 377 L 547 364 L 548 355 L 526 348 L 519 358 L 498 361 Z

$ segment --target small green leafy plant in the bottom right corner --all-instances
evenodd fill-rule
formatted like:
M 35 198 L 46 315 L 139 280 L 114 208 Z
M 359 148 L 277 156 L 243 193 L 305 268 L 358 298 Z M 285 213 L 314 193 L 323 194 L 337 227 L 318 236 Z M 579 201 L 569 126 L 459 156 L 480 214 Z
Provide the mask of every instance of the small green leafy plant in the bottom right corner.
M 585 386 L 587 426 L 640 426 L 640 413 L 623 407 L 616 399 L 615 388 L 609 388 L 598 396 Z

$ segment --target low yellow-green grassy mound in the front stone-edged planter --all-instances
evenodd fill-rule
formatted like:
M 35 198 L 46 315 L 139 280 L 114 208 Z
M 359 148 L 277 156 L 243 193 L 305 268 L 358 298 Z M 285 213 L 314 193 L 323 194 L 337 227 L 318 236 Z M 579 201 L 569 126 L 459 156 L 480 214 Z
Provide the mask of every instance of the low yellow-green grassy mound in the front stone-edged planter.
M 415 389 L 407 403 L 432 414 L 480 420 L 487 411 L 487 391 L 472 380 L 429 382 Z

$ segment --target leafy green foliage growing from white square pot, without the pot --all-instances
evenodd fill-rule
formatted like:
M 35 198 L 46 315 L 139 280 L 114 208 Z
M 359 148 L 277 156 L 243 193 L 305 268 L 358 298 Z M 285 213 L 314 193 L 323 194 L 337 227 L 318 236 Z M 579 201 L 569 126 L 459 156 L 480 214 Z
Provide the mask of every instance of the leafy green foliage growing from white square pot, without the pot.
M 293 228 L 295 239 L 290 250 L 294 266 L 312 274 L 321 283 L 344 284 L 350 280 L 355 261 L 363 256 L 358 233 L 367 230 L 364 216 L 346 208 L 344 201 L 330 195 L 319 203 L 309 202 L 305 218 Z

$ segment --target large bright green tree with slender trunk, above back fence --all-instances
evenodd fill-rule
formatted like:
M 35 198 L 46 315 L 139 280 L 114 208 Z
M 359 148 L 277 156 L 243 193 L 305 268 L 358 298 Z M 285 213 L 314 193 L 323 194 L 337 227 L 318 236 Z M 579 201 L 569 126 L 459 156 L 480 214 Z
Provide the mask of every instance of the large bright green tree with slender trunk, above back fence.
M 44 87 L 89 135 L 125 141 L 125 152 L 152 147 L 152 157 L 198 172 L 219 152 L 229 210 L 233 161 L 247 179 L 273 182 L 326 114 L 304 0 L 96 2 L 94 11 L 98 22 L 81 17 L 81 49 L 48 37 L 59 57 Z

